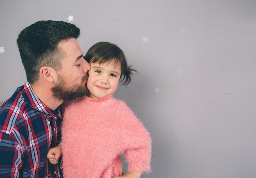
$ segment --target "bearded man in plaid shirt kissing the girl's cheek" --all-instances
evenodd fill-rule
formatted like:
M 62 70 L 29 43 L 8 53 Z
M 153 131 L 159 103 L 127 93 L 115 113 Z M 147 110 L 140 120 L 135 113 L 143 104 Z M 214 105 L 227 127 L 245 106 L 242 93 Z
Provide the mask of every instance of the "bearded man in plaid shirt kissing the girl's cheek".
M 74 24 L 51 20 L 36 22 L 19 34 L 27 82 L 0 103 L 1 178 L 62 177 L 47 152 L 55 154 L 51 148 L 60 142 L 60 105 L 86 92 L 90 65 L 76 40 L 79 34 Z

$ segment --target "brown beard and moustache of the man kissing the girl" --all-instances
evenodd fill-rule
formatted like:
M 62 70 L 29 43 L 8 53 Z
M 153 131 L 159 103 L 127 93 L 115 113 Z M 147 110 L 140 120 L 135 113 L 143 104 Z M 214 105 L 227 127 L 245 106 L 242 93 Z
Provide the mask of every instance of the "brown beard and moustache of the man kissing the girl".
M 87 89 L 85 85 L 80 85 L 77 89 L 67 89 L 67 83 L 65 78 L 58 76 L 59 83 L 52 88 L 53 96 L 60 100 L 74 100 L 75 98 L 85 96 Z M 86 80 L 88 76 L 82 78 L 82 82 Z

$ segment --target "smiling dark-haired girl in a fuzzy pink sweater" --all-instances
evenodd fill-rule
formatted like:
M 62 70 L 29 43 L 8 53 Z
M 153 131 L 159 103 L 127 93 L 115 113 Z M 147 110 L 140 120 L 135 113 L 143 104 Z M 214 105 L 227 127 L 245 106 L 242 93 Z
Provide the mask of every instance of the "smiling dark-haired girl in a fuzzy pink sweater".
M 128 85 L 136 70 L 123 51 L 109 42 L 94 44 L 85 55 L 91 70 L 88 95 L 65 103 L 62 126 L 65 178 L 122 176 L 124 153 L 128 174 L 150 171 L 151 138 L 125 102 L 113 98 L 119 81 Z

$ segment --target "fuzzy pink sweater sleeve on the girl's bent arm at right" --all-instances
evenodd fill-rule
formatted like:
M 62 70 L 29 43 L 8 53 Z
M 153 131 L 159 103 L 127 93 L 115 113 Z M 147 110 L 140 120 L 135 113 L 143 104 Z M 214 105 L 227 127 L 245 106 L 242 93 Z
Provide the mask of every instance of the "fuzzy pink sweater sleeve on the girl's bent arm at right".
M 126 150 L 124 151 L 126 161 L 128 162 L 128 171 L 150 172 L 151 160 L 151 138 L 142 124 L 134 115 L 132 110 L 125 107 L 121 112 L 121 118 L 127 118 L 125 124 Z

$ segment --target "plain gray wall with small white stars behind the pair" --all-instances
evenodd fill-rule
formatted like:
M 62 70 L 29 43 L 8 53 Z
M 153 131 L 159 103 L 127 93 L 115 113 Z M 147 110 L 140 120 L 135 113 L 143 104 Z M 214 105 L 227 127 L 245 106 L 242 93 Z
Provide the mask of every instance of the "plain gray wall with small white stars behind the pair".
M 153 138 L 152 178 L 256 177 L 255 0 L 0 0 L 0 100 L 24 85 L 16 38 L 38 20 L 124 50 L 139 74 L 115 96 Z

